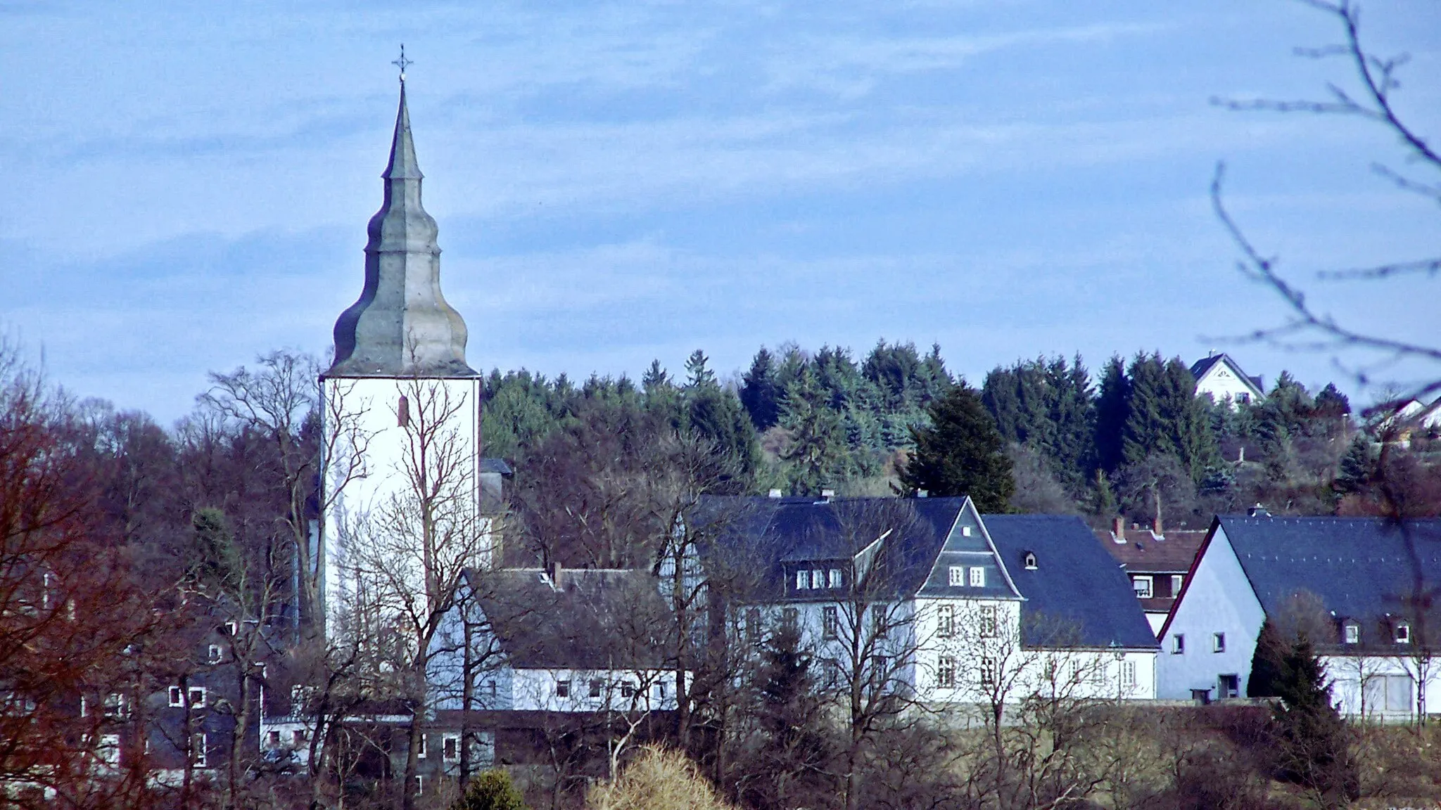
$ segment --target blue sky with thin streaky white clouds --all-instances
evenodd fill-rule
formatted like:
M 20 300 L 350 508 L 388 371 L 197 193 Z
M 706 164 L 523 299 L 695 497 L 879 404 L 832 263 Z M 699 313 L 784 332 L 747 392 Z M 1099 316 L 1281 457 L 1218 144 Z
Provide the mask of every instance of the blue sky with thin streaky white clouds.
M 1441 6 L 1363 23 L 1441 133 Z M 1303 280 L 1437 252 L 1434 205 L 1370 173 L 1401 164 L 1386 133 L 1208 102 L 1349 82 L 1291 55 L 1337 33 L 1287 0 L 0 3 L 0 329 L 161 421 L 210 369 L 326 352 L 405 42 L 476 368 L 635 376 L 702 347 L 726 373 L 762 343 L 885 337 L 973 382 L 1215 347 L 1359 392 L 1329 355 L 1231 340 L 1281 310 L 1206 197 L 1225 160 L 1233 213 Z M 1438 282 L 1314 300 L 1434 340 Z

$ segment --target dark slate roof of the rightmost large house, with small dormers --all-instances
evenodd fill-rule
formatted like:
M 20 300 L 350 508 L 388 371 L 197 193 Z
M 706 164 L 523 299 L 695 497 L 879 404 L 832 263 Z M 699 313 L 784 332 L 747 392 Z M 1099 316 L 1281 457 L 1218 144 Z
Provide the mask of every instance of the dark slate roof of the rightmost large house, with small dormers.
M 1270 615 L 1308 592 L 1337 618 L 1375 620 L 1405 611 L 1418 574 L 1424 588 L 1441 585 L 1441 519 L 1221 516 L 1216 526 Z

